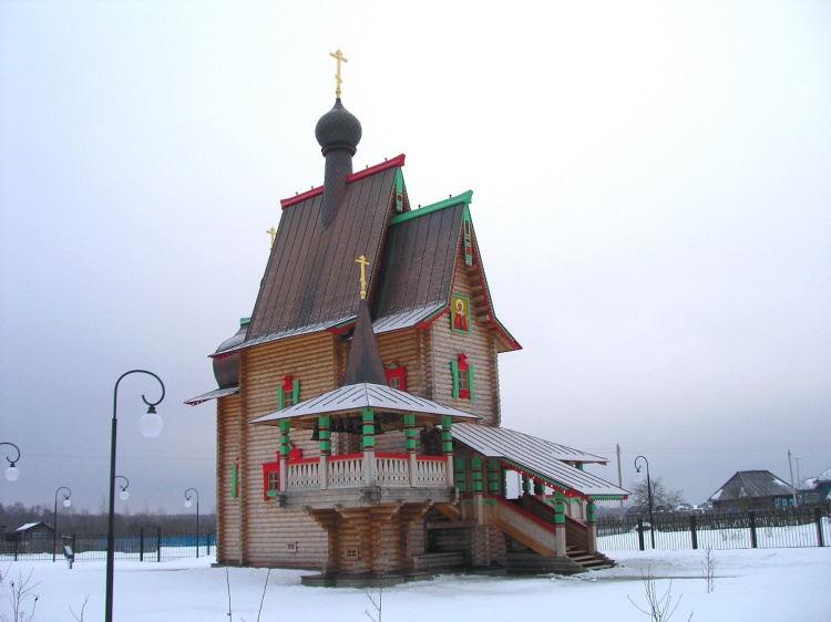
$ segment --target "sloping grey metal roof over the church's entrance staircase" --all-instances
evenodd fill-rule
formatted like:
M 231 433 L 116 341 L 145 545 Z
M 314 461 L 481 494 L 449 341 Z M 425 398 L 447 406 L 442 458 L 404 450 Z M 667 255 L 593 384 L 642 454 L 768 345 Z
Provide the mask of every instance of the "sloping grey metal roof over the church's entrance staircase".
M 517 467 L 554 488 L 574 490 L 589 499 L 628 496 L 623 488 L 564 462 L 605 464 L 599 456 L 505 427 L 459 423 L 452 426 L 452 433 L 454 440 L 474 452 Z

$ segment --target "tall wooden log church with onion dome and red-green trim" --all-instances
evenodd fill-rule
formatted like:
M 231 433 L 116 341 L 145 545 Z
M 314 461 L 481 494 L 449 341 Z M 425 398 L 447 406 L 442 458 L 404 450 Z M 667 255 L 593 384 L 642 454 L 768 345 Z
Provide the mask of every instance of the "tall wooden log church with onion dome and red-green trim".
M 317 585 L 607 563 L 594 504 L 627 493 L 583 470 L 605 459 L 501 426 L 496 359 L 520 344 L 472 193 L 414 209 L 403 155 L 352 173 L 332 55 L 324 185 L 281 201 L 252 317 L 212 355 L 219 387 L 187 402 L 217 404 L 217 562 Z

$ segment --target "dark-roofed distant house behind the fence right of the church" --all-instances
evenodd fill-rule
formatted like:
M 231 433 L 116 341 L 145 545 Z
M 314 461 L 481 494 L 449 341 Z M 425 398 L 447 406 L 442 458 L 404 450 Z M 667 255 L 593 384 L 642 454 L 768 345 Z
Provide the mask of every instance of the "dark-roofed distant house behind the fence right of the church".
M 738 470 L 708 500 L 716 511 L 783 509 L 793 507 L 793 488 L 769 470 Z

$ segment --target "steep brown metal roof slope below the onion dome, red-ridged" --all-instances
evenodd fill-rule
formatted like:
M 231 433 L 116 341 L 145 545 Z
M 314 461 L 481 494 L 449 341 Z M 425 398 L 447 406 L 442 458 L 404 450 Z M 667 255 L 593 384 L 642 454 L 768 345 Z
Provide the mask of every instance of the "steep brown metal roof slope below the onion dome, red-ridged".
M 243 346 L 324 330 L 357 315 L 355 260 L 363 255 L 370 270 L 377 270 L 394 175 L 396 167 L 388 167 L 348 183 L 326 230 L 320 224 L 322 195 L 284 209 Z

